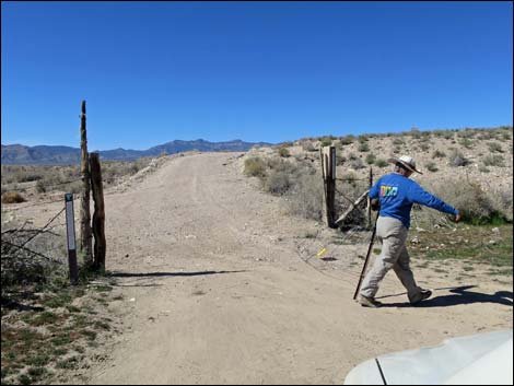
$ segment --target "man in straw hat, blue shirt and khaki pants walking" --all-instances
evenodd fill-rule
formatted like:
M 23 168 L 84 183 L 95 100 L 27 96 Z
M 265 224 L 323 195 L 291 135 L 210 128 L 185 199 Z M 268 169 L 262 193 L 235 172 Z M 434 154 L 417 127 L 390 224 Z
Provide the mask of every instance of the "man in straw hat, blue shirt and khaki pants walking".
M 370 189 L 372 202 L 379 202 L 379 217 L 376 222 L 376 235 L 383 242 L 381 255 L 376 258 L 370 272 L 367 272 L 360 290 L 359 303 L 366 307 L 379 307 L 381 302 L 375 300 L 378 284 L 389 269 L 394 269 L 401 284 L 407 289 L 411 304 L 417 304 L 432 295 L 432 291 L 423 290 L 416 284 L 410 270 L 409 253 L 406 248 L 407 233 L 410 227 L 410 211 L 413 203 L 420 203 L 444 213 L 455 215 L 460 221 L 459 212 L 425 191 L 412 179 L 409 179 L 416 169 L 416 161 L 408 155 L 399 159 L 389 159 L 395 165 L 394 173 L 379 178 Z

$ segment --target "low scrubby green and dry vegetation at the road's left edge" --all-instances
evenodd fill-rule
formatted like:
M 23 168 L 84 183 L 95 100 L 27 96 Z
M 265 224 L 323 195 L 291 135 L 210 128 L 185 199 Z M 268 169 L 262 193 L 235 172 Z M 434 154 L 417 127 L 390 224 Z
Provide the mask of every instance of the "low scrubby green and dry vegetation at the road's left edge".
M 114 283 L 80 259 L 80 282 L 70 285 L 65 235 L 43 233 L 27 249 L 12 247 L 31 235 L 20 224 L 2 226 L 2 385 L 63 381 L 67 371 L 86 365 L 87 352 L 117 331 L 106 309 L 120 300 L 112 294 Z

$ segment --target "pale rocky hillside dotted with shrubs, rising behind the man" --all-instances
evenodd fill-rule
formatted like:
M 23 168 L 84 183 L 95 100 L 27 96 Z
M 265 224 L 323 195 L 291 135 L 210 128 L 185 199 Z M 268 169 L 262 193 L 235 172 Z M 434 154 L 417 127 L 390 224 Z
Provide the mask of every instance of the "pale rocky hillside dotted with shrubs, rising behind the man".
M 259 177 L 264 188 L 271 194 L 285 195 L 290 200 L 300 194 L 301 201 L 305 202 L 305 197 L 313 194 L 305 192 L 304 186 L 312 183 L 306 184 L 303 174 L 312 174 L 313 171 L 319 174 L 319 149 L 324 145 L 336 147 L 337 178 L 343 179 L 337 185 L 343 194 L 349 190 L 363 191 L 370 167 L 376 180 L 390 173 L 389 157 L 407 154 L 414 157 L 418 169 L 423 173 L 413 174 L 412 178 L 428 190 L 459 209 L 471 210 L 472 217 L 480 218 L 483 212 L 484 218 L 490 218 L 501 212 L 502 218 L 512 221 L 511 126 L 304 138 L 279 147 L 253 149 L 246 155 L 249 161 L 245 165 L 253 169 L 247 168 L 246 174 Z M 290 177 L 290 171 L 294 171 L 294 178 Z M 352 180 L 357 183 L 348 184 Z M 351 191 L 349 196 L 360 191 Z

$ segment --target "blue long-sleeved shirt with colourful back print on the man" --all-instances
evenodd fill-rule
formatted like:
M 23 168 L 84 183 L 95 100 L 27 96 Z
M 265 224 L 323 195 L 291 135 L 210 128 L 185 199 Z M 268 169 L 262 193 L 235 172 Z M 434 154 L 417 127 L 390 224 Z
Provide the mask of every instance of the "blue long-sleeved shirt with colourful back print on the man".
M 379 215 L 400 220 L 410 227 L 410 211 L 413 203 L 420 203 L 440 212 L 458 214 L 458 211 L 443 200 L 424 190 L 418 183 L 400 174 L 392 173 L 379 178 L 370 189 L 370 198 L 378 198 Z

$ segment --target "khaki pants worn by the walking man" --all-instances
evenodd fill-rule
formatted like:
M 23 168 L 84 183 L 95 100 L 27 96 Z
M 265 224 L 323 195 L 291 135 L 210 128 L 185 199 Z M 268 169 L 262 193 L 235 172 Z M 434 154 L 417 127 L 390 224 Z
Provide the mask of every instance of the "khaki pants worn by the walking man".
M 375 297 L 378 284 L 393 268 L 401 284 L 407 289 L 409 301 L 419 300 L 421 289 L 416 284 L 409 265 L 410 256 L 405 246 L 408 232 L 408 229 L 397 219 L 378 218 L 376 235 L 383 243 L 382 253 L 362 282 L 361 295 Z

